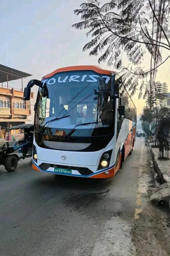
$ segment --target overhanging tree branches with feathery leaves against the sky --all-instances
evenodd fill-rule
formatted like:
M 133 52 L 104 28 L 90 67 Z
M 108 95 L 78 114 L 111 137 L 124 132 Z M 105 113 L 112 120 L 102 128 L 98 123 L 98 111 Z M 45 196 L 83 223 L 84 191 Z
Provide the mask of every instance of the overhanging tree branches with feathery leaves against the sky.
M 153 72 L 155 81 L 157 68 L 170 57 L 168 55 L 165 60 L 161 57 L 161 49 L 170 51 L 169 12 L 170 0 L 111 0 L 103 6 L 98 0 L 87 0 L 74 11 L 81 16 L 81 21 L 72 27 L 88 30 L 86 35 L 92 40 L 83 47 L 83 51 L 92 49 L 90 56 L 101 54 L 99 64 L 107 61 L 109 66 L 121 70 L 123 53 L 135 66 L 141 64 L 146 52 L 151 54 L 154 60 L 151 69 L 135 67 L 134 70 L 123 70 L 123 82 L 132 92 L 131 96 L 140 80 L 140 98 L 146 87 L 144 79 Z

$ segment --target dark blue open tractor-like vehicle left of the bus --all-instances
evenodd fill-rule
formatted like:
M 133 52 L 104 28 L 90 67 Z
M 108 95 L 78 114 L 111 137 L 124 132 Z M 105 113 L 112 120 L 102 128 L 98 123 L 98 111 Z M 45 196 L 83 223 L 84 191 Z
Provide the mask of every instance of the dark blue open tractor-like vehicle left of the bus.
M 9 130 L 18 129 L 24 131 L 24 139 L 19 139 L 13 146 L 9 146 L 7 142 L 7 147 L 4 144 L 0 150 L 0 165 L 4 165 L 8 172 L 15 171 L 20 159 L 32 157 L 34 125 L 21 124 L 9 128 Z

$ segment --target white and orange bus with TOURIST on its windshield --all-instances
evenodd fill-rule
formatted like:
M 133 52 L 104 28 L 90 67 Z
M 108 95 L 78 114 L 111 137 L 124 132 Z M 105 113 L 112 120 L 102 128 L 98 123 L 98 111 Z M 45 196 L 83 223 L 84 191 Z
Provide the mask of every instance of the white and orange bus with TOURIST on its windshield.
M 136 140 L 136 108 L 116 79 L 116 72 L 98 66 L 73 66 L 29 81 L 25 100 L 39 86 L 33 169 L 111 178 L 122 168 Z

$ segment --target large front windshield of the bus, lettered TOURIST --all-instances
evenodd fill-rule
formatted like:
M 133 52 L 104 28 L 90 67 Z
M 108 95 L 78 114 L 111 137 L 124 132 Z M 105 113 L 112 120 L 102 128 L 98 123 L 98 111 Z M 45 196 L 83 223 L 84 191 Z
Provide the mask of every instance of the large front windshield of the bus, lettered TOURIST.
M 74 137 L 96 136 L 96 129 L 103 135 L 113 134 L 111 82 L 114 82 L 111 75 L 85 70 L 57 73 L 43 79 L 37 95 L 35 131 L 66 136 L 76 127 Z

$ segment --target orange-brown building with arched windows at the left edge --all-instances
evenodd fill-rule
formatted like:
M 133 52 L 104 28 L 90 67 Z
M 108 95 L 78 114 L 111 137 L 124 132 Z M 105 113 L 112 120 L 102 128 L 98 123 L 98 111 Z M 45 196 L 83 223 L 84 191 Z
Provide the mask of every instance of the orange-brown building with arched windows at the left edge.
M 24 124 L 26 121 L 31 121 L 28 117 L 31 115 L 30 101 L 23 99 L 23 78 L 31 76 L 28 73 L 21 72 L 0 64 L 0 130 L 2 134 L 7 133 L 9 127 L 19 124 Z M 9 81 L 20 79 L 22 89 L 9 87 Z M 4 87 L 3 83 L 7 82 Z M 18 80 L 19 82 L 19 80 Z M 34 94 L 31 92 L 31 99 Z

